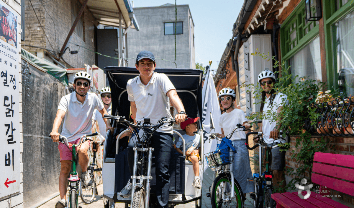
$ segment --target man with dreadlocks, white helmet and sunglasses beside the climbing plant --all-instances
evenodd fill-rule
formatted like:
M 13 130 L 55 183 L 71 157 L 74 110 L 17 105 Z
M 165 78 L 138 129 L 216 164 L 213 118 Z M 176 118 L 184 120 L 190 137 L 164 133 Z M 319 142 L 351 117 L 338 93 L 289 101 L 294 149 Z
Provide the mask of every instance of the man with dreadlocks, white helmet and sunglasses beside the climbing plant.
M 276 115 L 280 113 L 281 107 L 287 102 L 287 96 L 281 92 L 276 92 L 274 89 L 275 75 L 272 71 L 264 70 L 258 75 L 258 82 L 261 85 L 262 103 L 261 112 L 267 115 Z M 265 116 L 262 119 L 262 124 L 259 127 L 263 132 L 263 140 L 268 146 L 274 146 L 277 142 L 285 142 L 284 140 L 277 140 L 279 132 L 281 131 L 281 123 L 276 123 L 274 117 Z M 256 139 L 258 140 L 258 139 Z M 255 141 L 256 142 L 256 141 Z M 282 188 L 285 187 L 285 176 L 283 169 L 285 167 L 285 151 L 280 151 L 281 147 L 272 149 L 272 163 L 269 168 L 273 172 L 273 184 L 278 186 L 278 182 L 283 181 Z

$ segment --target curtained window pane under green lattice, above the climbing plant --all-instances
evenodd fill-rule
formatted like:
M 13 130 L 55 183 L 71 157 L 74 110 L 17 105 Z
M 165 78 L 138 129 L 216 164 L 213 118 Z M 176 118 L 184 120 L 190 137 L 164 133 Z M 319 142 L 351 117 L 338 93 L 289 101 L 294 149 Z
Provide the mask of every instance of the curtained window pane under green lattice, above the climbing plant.
M 317 83 L 322 81 L 320 38 L 317 37 L 291 57 L 290 65 L 293 77 L 299 75 L 299 77 L 309 77 L 309 79 L 316 80 Z M 299 81 L 299 78 L 295 81 Z

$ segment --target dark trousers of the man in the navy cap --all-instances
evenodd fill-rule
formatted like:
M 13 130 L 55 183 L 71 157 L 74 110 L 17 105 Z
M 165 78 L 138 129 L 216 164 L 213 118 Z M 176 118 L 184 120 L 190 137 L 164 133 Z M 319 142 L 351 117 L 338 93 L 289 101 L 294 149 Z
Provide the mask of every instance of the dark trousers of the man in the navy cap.
M 155 156 L 153 162 L 155 163 L 156 173 L 157 207 L 167 208 L 170 192 L 169 166 L 172 152 L 172 134 L 155 132 L 152 138 L 152 148 L 154 148 L 153 155 Z M 134 151 L 132 147 L 128 148 L 128 165 L 130 173 L 133 174 Z

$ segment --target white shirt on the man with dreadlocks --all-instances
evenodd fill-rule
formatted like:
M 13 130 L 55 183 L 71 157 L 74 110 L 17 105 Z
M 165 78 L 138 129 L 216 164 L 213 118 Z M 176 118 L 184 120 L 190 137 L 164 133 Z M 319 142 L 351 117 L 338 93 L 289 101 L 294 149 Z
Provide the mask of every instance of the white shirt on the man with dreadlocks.
M 266 100 L 266 103 L 264 103 L 264 107 L 263 107 L 263 113 L 267 113 L 269 112 L 278 112 L 278 108 L 280 106 L 283 106 L 283 100 L 286 102 L 286 104 L 288 104 L 289 102 L 287 101 L 287 96 L 282 94 L 281 92 L 277 93 L 274 97 L 273 100 L 273 105 L 270 106 L 269 103 L 269 98 Z M 274 139 L 270 139 L 269 138 L 269 134 L 270 131 L 273 131 L 273 129 L 276 127 L 276 120 L 275 118 L 265 118 L 262 119 L 262 132 L 263 132 L 263 140 L 265 141 L 265 143 L 267 144 L 272 144 Z M 285 135 L 283 136 L 285 137 Z M 281 143 L 285 143 L 284 140 L 279 141 Z

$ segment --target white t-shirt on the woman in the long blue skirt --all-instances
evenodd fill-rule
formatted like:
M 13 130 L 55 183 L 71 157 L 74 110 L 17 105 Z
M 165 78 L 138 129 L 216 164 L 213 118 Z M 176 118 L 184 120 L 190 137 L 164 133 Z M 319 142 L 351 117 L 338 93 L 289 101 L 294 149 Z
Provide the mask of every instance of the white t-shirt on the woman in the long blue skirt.
M 245 113 L 240 110 L 240 109 L 233 109 L 230 113 L 223 113 L 219 117 L 219 127 L 224 130 L 224 135 L 227 136 L 231 141 L 233 140 L 240 140 L 240 139 L 246 139 L 246 133 L 245 131 L 240 131 L 240 129 L 236 129 L 232 137 L 230 138 L 230 135 L 234 128 L 236 128 L 237 124 L 243 124 L 244 122 L 247 122 L 247 119 L 245 117 Z

